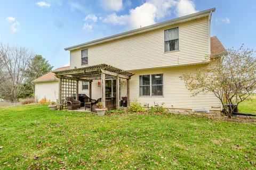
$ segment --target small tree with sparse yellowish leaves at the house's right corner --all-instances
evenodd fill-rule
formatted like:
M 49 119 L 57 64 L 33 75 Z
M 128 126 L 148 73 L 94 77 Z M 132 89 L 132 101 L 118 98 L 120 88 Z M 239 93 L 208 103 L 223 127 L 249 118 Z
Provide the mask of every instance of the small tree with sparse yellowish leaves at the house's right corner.
M 228 49 L 226 54 L 211 56 L 212 66 L 198 70 L 195 74 L 185 73 L 185 81 L 193 96 L 212 92 L 220 99 L 223 114 L 229 118 L 234 112 L 234 104 L 249 98 L 256 89 L 256 57 L 253 50 Z

